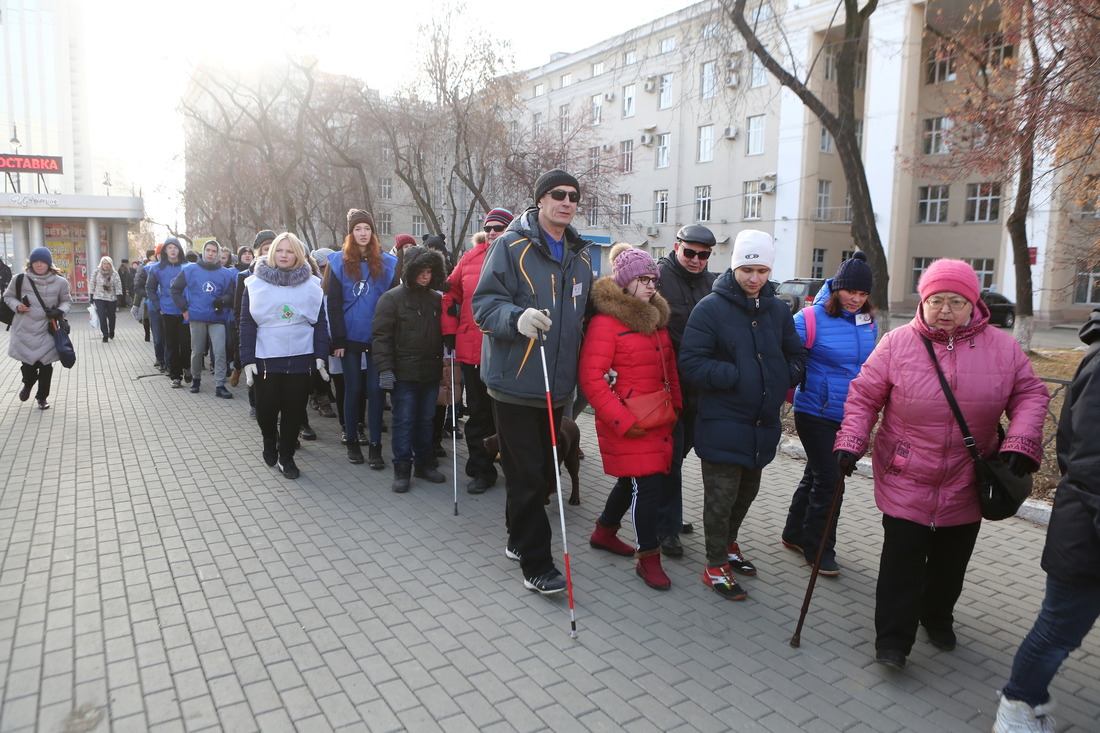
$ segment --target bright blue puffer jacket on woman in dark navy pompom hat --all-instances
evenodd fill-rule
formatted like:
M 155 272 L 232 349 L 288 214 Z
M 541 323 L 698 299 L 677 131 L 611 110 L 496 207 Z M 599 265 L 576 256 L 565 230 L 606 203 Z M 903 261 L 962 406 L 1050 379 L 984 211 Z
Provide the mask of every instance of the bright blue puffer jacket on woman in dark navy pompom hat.
M 806 381 L 794 394 L 794 409 L 839 423 L 844 419 L 848 385 L 875 350 L 879 326 L 870 314 L 842 310 L 835 318 L 826 315 L 825 303 L 833 293 L 832 286 L 831 277 L 814 298 L 814 342 L 806 361 Z M 803 308 L 794 316 L 794 328 L 803 343 L 807 310 Z

